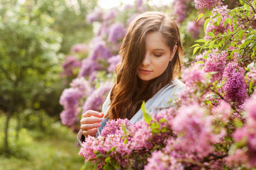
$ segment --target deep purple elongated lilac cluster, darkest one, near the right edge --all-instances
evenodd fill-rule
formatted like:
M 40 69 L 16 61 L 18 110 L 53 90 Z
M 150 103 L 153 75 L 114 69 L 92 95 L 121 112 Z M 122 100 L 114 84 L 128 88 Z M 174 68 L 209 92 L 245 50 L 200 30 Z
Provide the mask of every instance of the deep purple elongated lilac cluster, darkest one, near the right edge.
M 237 105 L 242 105 L 247 98 L 244 74 L 245 70 L 239 67 L 236 62 L 228 63 L 223 72 L 223 79 L 226 79 L 226 84 L 221 91 L 225 93 L 224 98 L 236 102 Z

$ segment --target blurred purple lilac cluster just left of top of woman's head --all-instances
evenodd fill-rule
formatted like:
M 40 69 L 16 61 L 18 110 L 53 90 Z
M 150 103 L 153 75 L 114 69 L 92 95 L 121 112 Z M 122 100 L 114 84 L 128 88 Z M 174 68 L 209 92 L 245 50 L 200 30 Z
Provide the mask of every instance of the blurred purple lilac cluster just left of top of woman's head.
M 126 30 L 121 23 L 113 23 L 108 30 L 108 41 L 118 43 L 118 40 L 126 35 Z

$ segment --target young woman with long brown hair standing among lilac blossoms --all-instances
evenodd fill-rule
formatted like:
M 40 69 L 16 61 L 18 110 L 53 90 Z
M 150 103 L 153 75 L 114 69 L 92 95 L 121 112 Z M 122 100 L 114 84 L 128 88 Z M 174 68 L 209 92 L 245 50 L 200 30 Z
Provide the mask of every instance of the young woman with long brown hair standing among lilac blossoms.
M 165 13 L 146 12 L 137 16 L 128 27 L 120 55 L 116 83 L 102 113 L 87 111 L 82 115 L 77 135 L 80 142 L 88 135 L 99 135 L 107 120 L 140 120 L 143 101 L 150 113 L 172 106 L 172 99 L 185 86 L 175 78 L 180 73 L 182 57 L 179 28 Z

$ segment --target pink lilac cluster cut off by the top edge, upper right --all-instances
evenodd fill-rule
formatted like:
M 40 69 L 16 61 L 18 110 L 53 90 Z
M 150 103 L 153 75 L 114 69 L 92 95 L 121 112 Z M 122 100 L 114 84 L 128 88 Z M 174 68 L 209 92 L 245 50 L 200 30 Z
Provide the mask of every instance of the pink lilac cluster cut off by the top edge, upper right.
M 195 7 L 198 10 L 208 9 L 221 5 L 221 0 L 194 0 Z

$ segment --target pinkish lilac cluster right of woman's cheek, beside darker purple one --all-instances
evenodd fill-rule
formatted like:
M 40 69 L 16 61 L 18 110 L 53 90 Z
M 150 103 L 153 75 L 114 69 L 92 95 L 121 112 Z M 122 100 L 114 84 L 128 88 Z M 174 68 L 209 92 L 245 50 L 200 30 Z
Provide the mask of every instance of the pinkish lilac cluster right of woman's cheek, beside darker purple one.
M 208 55 L 204 65 L 204 72 L 216 72 L 212 75 L 211 81 L 220 81 L 226 66 L 226 58 L 228 53 L 225 51 L 218 52 L 218 50 L 212 50 Z

